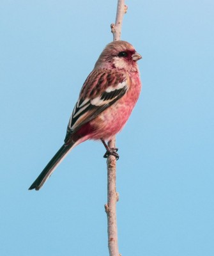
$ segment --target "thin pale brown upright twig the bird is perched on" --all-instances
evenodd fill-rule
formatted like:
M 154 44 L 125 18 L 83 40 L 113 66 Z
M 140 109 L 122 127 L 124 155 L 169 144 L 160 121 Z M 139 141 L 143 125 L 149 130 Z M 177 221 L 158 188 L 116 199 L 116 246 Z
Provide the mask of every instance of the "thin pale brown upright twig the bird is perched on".
M 113 40 L 120 40 L 123 15 L 127 11 L 125 0 L 118 0 L 118 8 L 115 24 L 111 24 Z M 116 148 L 116 137 L 114 136 L 108 143 L 109 148 Z M 118 250 L 118 228 L 116 218 L 116 202 L 119 200 L 119 194 L 116 192 L 116 158 L 109 156 L 107 159 L 107 204 L 105 212 L 107 213 L 108 225 L 108 246 L 110 256 L 119 256 Z

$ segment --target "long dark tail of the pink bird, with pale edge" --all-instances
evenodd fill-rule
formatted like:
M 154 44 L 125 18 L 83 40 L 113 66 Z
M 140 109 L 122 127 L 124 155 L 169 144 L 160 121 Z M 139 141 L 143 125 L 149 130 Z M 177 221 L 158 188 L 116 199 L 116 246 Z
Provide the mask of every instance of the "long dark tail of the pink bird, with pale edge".
M 54 172 L 57 165 L 63 161 L 63 158 L 68 154 L 68 152 L 72 149 L 75 143 L 72 142 L 69 145 L 63 145 L 54 157 L 50 160 L 50 162 L 45 166 L 44 170 L 40 173 L 38 178 L 33 182 L 33 184 L 29 187 L 29 190 L 36 189 L 39 190 L 42 188 L 45 181 L 50 177 L 50 175 Z

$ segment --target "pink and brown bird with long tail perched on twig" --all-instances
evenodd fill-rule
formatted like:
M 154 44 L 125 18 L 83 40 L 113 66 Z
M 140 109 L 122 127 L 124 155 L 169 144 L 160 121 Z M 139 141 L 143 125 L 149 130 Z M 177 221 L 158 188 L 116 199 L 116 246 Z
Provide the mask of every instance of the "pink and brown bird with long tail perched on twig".
M 123 129 L 139 99 L 141 78 L 137 61 L 141 58 L 126 41 L 107 44 L 80 90 L 63 146 L 29 190 L 42 188 L 66 155 L 86 140 L 102 141 L 107 150 L 103 157 L 119 158 L 118 148 L 109 148 L 107 141 Z

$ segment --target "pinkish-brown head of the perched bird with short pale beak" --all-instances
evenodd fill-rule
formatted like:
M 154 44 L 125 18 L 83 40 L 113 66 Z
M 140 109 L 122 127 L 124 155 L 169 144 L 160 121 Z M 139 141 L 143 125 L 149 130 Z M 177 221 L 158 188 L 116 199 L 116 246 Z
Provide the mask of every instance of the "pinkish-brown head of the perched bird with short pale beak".
M 141 54 L 137 53 L 128 42 L 114 41 L 102 51 L 95 68 L 116 68 L 126 72 L 136 72 L 137 61 L 141 58 Z

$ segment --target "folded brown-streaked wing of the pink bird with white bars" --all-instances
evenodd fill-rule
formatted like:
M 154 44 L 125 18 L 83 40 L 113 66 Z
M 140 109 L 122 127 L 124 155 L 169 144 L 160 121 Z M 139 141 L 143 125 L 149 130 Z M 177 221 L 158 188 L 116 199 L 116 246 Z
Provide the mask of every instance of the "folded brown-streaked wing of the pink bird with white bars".
M 82 86 L 70 117 L 65 142 L 70 134 L 98 116 L 125 95 L 128 79 L 122 72 L 93 70 Z

